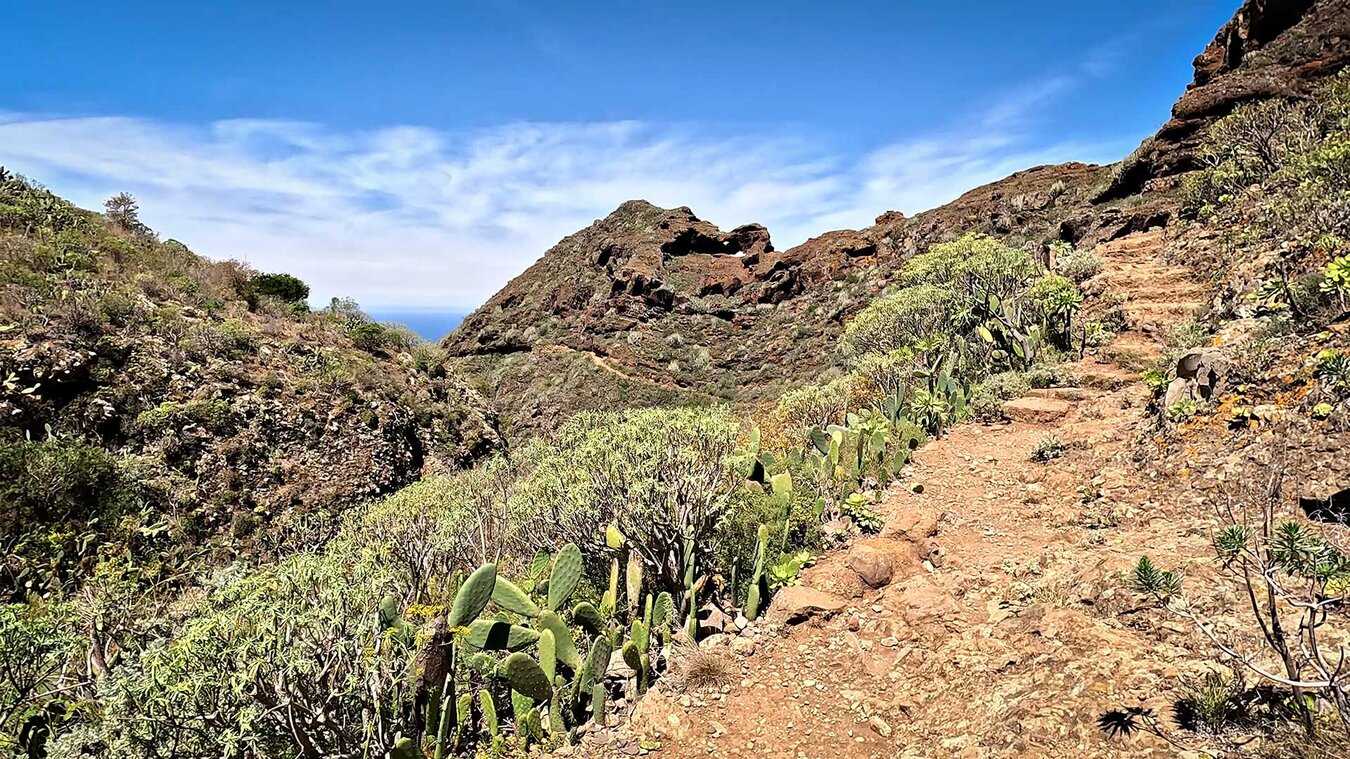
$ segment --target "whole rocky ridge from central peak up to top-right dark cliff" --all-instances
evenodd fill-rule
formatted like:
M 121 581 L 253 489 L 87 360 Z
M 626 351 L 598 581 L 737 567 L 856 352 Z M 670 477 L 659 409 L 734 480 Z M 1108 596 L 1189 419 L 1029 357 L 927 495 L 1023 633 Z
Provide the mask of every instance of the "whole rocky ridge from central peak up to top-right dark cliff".
M 1247 3 L 1196 58 L 1172 119 L 1114 167 L 1019 172 L 941 208 L 776 250 L 770 230 L 722 232 L 688 208 L 620 205 L 555 247 L 444 342 L 535 428 L 583 408 L 764 401 L 842 365 L 842 324 L 894 289 L 899 265 L 980 232 L 1049 253 L 1164 224 L 1158 197 L 1196 167 L 1199 135 L 1238 104 L 1305 96 L 1345 66 L 1342 3 Z M 1154 190 L 1141 196 L 1145 189 Z M 1126 200 L 1127 199 L 1127 200 Z

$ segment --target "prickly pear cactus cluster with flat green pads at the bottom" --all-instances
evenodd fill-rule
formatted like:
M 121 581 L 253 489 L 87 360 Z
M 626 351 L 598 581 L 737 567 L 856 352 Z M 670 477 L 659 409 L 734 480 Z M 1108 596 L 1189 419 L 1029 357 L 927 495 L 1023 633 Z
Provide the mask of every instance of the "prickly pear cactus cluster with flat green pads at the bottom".
M 616 551 L 625 547 L 613 527 L 606 542 Z M 633 671 L 625 687 L 643 693 L 651 686 L 670 650 L 675 601 L 670 593 L 643 594 L 636 555 L 626 562 L 620 601 L 620 563 L 616 558 L 610 566 L 601 608 L 585 600 L 568 608 L 585 574 L 582 552 L 571 543 L 552 556 L 543 598 L 498 575 L 493 563 L 464 578 L 446 620 L 454 632 L 451 669 L 435 705 L 436 735 L 427 739 L 437 759 L 468 748 L 497 756 L 509 745 L 560 745 L 587 720 L 605 724 L 614 651 Z M 389 635 L 413 640 L 397 600 L 381 602 L 378 614 Z M 460 686 L 468 690 L 456 698 Z M 504 729 L 494 690 L 509 696 L 513 735 Z M 416 736 L 402 737 L 390 755 L 412 759 L 421 750 Z

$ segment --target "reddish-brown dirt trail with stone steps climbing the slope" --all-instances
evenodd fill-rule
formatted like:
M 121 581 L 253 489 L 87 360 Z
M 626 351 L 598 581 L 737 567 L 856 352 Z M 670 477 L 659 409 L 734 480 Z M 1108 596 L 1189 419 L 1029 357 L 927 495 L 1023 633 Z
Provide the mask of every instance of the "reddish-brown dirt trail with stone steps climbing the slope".
M 1096 250 L 1130 325 L 1102 351 L 1110 363 L 1073 366 L 1083 388 L 1033 396 L 1022 420 L 960 425 L 921 450 L 882 504 L 883 533 L 807 571 L 803 583 L 837 608 L 756 625 L 760 635 L 736 644 L 753 652 L 734 682 L 659 687 L 632 735 L 602 736 L 608 747 L 582 755 L 645 752 L 639 737 L 679 759 L 1177 755 L 1152 736 L 1108 740 L 1096 725 L 1120 706 L 1165 714 L 1189 666 L 1189 631 L 1135 614 L 1120 573 L 1143 551 L 1176 559 L 1207 546 L 1199 521 L 1156 494 L 1166 475 L 1130 459 L 1148 397 L 1133 369 L 1206 297 L 1162 263 L 1161 246 L 1154 231 Z M 1033 462 L 1050 434 L 1068 452 Z

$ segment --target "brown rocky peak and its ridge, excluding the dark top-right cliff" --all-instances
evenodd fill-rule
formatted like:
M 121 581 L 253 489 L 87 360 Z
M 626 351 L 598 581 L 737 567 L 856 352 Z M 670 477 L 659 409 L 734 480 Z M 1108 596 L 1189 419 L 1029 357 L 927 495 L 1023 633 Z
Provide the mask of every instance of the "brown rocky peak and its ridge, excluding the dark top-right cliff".
M 772 400 L 834 366 L 848 316 L 934 242 L 976 231 L 1048 250 L 1166 220 L 1092 207 L 1108 178 L 1100 166 L 1040 166 L 788 250 L 757 224 L 722 232 L 688 208 L 629 201 L 554 246 L 443 346 L 520 429 L 634 402 Z

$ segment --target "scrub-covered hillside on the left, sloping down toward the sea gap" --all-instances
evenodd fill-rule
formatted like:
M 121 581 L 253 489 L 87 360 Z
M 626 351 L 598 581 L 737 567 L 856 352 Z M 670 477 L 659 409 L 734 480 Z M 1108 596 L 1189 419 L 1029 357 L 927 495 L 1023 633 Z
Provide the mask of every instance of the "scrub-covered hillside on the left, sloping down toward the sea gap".
M 132 548 L 320 544 L 338 516 L 497 446 L 440 354 L 294 277 L 161 240 L 0 170 L 0 594 Z

